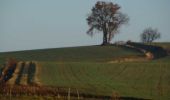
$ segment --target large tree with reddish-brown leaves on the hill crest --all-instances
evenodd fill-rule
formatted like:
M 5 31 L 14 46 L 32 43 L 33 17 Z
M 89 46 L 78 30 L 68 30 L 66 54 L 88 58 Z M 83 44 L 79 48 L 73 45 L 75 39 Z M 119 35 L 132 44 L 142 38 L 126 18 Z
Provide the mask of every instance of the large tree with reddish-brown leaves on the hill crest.
M 127 15 L 121 13 L 119 9 L 118 4 L 98 1 L 86 19 L 90 27 L 87 34 L 92 36 L 96 30 L 101 31 L 103 45 L 109 44 L 114 35 L 119 32 L 120 26 L 129 21 Z

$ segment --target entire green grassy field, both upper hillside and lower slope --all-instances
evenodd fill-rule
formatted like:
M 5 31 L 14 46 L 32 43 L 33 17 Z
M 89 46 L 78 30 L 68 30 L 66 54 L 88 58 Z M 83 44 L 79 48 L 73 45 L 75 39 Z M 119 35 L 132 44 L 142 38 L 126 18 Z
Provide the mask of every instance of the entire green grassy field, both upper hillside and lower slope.
M 164 45 L 169 48 L 169 44 Z M 40 68 L 37 77 L 44 86 L 77 89 L 94 95 L 111 96 L 116 92 L 134 100 L 170 99 L 170 56 L 153 61 L 110 62 L 144 55 L 119 46 L 86 46 L 0 53 L 0 64 L 9 57 L 37 61 Z

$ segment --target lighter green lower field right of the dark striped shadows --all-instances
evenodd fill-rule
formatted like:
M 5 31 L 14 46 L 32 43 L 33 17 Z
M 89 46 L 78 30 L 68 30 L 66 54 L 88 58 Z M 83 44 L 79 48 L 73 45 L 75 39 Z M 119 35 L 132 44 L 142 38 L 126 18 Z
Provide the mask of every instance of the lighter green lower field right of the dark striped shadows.
M 170 99 L 170 63 L 41 62 L 44 85 L 77 88 L 85 93 Z

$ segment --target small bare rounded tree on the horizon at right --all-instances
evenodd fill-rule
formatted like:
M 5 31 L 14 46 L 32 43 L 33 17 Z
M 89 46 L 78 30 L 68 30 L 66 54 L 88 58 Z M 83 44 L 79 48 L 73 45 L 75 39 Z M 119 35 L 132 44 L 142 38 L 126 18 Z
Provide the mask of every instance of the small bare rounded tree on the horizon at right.
M 146 28 L 141 34 L 141 41 L 143 43 L 152 43 L 154 40 L 161 37 L 160 32 L 157 29 L 152 29 L 151 27 Z

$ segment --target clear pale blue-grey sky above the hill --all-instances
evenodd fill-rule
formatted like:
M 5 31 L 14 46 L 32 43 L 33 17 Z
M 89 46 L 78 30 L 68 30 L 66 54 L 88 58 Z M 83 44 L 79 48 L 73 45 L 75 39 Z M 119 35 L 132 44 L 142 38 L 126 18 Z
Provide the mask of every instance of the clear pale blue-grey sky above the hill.
M 103 0 L 117 3 L 130 18 L 115 41 L 140 41 L 147 27 L 170 42 L 170 0 Z M 102 43 L 102 33 L 86 34 L 87 15 L 97 0 L 0 0 L 0 52 Z

